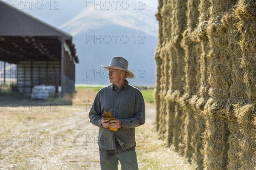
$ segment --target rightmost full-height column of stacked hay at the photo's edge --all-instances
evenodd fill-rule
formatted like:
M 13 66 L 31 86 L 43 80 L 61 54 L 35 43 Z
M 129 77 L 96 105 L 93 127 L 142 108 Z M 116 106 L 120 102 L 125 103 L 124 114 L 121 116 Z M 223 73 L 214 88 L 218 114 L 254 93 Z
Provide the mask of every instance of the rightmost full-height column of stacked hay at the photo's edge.
M 239 159 L 241 169 L 256 169 L 256 127 L 253 125 L 256 119 L 256 1 L 239 0 L 235 11 L 239 17 L 236 26 L 241 32 L 239 45 L 245 84 L 245 102 L 235 112 L 241 133 Z

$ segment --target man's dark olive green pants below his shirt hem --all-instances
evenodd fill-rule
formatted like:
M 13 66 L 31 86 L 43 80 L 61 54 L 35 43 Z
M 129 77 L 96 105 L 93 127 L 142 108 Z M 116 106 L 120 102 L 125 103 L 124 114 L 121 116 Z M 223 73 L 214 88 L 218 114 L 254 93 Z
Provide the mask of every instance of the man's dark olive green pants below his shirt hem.
M 122 170 L 138 170 L 135 146 L 124 150 L 116 141 L 116 150 L 99 148 L 101 170 L 117 170 L 120 161 Z

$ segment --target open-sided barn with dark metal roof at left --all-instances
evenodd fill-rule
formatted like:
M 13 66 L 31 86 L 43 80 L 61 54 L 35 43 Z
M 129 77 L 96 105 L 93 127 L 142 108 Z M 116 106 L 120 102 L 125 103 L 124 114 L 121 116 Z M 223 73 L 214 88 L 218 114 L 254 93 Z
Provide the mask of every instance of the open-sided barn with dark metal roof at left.
M 72 36 L 0 1 L 0 89 L 31 93 L 35 85 L 75 90 Z

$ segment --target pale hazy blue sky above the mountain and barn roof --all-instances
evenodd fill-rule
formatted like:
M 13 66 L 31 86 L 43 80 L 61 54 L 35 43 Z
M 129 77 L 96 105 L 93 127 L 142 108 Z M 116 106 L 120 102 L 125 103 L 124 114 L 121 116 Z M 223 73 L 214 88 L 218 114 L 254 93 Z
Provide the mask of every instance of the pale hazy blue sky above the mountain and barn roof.
M 114 1 L 129 1 L 130 3 L 135 0 L 2 0 L 9 5 L 24 11 L 44 22 L 49 23 L 52 26 L 58 27 L 61 24 L 71 20 L 76 14 L 79 14 L 81 10 L 86 7 L 87 2 L 91 1 L 94 5 L 96 3 L 110 2 L 112 6 Z M 136 0 L 136 8 L 143 7 L 145 5 L 153 8 L 154 13 L 157 12 L 158 0 Z M 43 5 L 43 6 L 42 6 Z M 37 8 L 36 8 L 37 6 Z M 134 7 L 134 6 L 131 6 Z M 57 8 L 57 10 L 55 10 Z M 98 8 L 98 7 L 97 7 Z M 69 11 L 69 12 L 67 12 Z

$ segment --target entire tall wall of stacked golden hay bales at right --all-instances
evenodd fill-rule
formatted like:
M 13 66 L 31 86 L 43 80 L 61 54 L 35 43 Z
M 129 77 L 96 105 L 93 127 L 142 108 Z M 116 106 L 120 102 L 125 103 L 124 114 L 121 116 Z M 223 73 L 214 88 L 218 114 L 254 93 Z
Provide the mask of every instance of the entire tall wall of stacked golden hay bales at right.
M 159 0 L 157 130 L 196 169 L 256 168 L 255 9 Z

